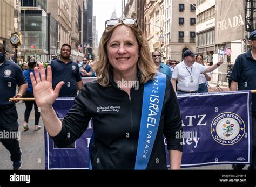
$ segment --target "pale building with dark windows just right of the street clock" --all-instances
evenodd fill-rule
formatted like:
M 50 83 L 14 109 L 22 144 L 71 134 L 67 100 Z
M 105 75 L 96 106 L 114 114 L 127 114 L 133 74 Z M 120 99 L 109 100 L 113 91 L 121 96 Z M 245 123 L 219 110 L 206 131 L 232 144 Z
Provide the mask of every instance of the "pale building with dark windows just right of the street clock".
M 21 33 L 23 45 L 20 47 L 21 58 L 28 56 L 47 56 L 48 51 L 48 15 L 46 0 L 21 1 Z M 48 61 L 38 59 L 38 61 Z

